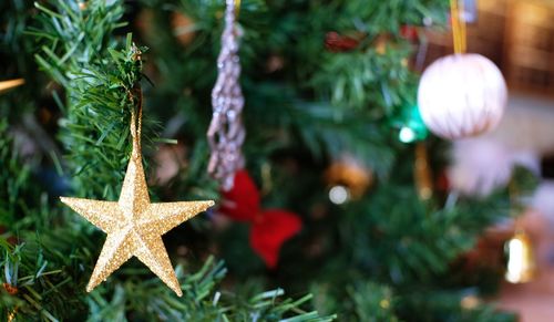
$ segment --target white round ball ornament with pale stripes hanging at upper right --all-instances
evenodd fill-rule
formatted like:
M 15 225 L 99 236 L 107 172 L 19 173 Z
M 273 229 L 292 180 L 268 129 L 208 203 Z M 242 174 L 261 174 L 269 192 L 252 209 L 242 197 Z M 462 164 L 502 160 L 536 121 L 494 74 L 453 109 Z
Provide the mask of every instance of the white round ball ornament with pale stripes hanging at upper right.
M 433 62 L 421 76 L 418 104 L 427 127 L 456 139 L 494 129 L 507 100 L 506 83 L 489 59 L 453 54 Z

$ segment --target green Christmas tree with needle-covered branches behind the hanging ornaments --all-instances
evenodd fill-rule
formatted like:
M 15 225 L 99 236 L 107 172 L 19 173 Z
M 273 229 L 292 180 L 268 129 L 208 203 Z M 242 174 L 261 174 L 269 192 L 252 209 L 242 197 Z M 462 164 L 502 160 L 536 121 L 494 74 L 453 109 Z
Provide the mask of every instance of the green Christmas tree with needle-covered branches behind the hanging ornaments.
M 463 301 L 501 278 L 463 255 L 513 202 L 433 187 L 448 145 L 414 107 L 407 30 L 444 28 L 448 1 L 235 6 L 245 163 L 223 189 L 223 0 L 0 4 L 2 80 L 24 80 L 0 92 L 1 319 L 511 321 Z M 110 229 L 59 199 L 119 200 L 138 110 L 152 201 L 216 202 L 164 235 L 182 298 L 140 256 L 88 293 Z

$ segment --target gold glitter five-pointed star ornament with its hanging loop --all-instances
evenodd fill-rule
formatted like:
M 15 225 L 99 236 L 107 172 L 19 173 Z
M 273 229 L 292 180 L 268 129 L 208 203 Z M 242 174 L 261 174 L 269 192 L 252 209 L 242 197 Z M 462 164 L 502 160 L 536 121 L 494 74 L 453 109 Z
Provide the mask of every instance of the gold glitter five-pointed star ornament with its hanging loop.
M 119 201 L 61 197 L 61 201 L 107 233 L 86 291 L 92 291 L 131 257 L 136 256 L 177 295 L 182 295 L 162 235 L 197 214 L 214 201 L 151 204 L 142 166 L 140 133 L 132 113 L 133 150 Z

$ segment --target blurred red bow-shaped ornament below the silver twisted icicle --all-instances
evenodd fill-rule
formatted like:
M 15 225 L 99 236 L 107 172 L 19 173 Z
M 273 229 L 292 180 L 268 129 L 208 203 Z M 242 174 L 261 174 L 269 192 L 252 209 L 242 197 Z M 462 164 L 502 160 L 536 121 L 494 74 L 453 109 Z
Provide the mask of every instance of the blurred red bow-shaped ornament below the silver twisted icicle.
M 281 209 L 261 209 L 259 191 L 246 170 L 237 172 L 233 189 L 222 194 L 219 211 L 252 224 L 250 247 L 267 267 L 275 268 L 283 243 L 301 229 L 300 218 Z

